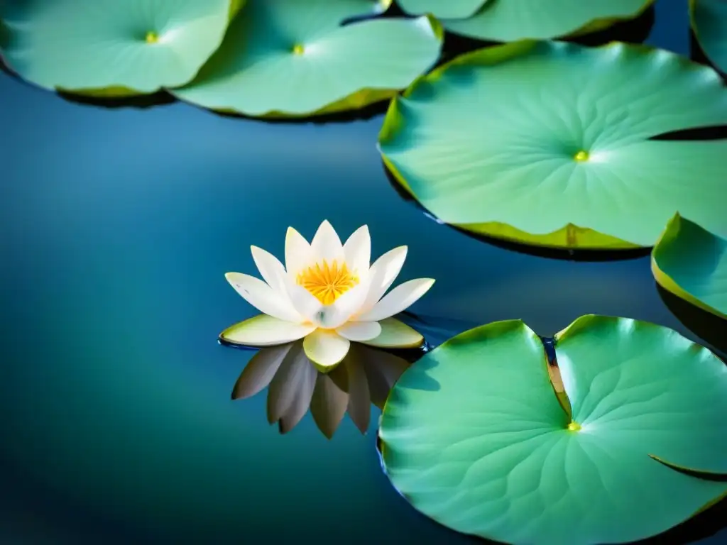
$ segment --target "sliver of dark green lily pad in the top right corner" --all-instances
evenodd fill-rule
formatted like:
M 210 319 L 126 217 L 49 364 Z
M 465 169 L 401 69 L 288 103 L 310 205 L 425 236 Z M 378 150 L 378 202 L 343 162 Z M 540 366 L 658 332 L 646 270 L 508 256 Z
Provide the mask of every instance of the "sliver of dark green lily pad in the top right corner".
M 704 55 L 727 73 L 727 2 L 690 0 L 691 28 Z

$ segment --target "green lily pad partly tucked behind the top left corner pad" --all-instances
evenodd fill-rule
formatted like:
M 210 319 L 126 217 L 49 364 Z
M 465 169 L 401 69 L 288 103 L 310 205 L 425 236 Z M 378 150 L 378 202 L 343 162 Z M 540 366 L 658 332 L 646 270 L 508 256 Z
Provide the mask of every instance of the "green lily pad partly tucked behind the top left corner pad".
M 438 60 L 431 17 L 374 19 L 371 0 L 250 0 L 182 100 L 256 117 L 362 108 L 392 97 Z

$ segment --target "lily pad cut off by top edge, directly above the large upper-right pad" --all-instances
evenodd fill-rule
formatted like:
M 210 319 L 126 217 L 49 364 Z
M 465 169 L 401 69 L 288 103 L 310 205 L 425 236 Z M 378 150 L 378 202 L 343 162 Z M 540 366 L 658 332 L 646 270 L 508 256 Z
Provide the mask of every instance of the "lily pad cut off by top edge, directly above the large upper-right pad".
M 550 39 L 594 32 L 638 17 L 654 0 L 400 0 L 409 13 L 432 12 L 446 30 L 491 41 Z M 477 5 L 479 4 L 479 6 Z

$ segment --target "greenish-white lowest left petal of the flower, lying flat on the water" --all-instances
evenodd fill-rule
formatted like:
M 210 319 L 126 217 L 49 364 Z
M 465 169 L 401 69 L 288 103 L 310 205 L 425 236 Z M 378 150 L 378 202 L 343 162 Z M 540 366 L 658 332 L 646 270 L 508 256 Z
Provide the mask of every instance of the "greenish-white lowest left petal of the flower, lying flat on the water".
M 315 329 L 316 326 L 285 322 L 262 314 L 228 327 L 222 331 L 220 339 L 249 347 L 271 347 L 302 339 Z

